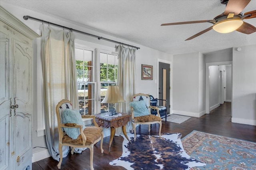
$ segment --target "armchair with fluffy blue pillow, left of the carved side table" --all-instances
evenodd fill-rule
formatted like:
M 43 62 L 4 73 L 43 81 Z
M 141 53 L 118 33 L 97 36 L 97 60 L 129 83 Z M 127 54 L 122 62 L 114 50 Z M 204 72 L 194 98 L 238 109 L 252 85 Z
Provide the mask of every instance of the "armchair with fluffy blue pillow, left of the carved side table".
M 74 148 L 89 148 L 90 149 L 90 169 L 93 170 L 93 147 L 100 141 L 100 150 L 103 153 L 103 132 L 102 128 L 98 127 L 93 115 L 82 115 L 79 111 L 72 109 L 72 104 L 68 100 L 61 100 L 56 106 L 56 115 L 58 121 L 59 132 L 59 152 L 60 162 L 62 163 L 62 146 L 71 147 L 71 154 L 74 153 Z M 82 118 L 92 119 L 94 126 L 85 127 Z

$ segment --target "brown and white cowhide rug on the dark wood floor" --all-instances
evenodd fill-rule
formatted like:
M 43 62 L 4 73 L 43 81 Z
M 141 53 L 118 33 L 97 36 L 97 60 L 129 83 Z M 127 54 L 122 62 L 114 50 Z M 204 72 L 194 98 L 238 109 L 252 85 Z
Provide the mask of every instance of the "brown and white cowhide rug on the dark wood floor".
M 127 170 L 189 170 L 193 166 L 206 165 L 184 152 L 180 133 L 162 134 L 162 138 L 137 135 L 135 142 L 134 134 L 129 133 L 128 137 L 132 143 L 124 137 L 122 156 L 110 165 L 123 166 Z

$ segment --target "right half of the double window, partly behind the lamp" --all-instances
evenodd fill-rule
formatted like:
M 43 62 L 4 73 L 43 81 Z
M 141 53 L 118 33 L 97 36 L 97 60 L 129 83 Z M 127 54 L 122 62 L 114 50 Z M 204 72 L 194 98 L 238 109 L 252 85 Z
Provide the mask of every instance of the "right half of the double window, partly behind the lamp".
M 116 85 L 118 71 L 117 53 L 100 51 L 100 102 L 104 99 L 107 87 Z M 115 109 L 115 104 L 100 105 L 100 112 L 108 112 L 109 109 Z

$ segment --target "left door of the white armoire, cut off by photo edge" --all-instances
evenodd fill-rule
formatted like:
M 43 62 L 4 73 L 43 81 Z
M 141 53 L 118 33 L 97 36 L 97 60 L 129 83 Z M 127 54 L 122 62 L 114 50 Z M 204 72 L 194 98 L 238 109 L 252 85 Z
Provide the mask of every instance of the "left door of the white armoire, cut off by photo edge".
M 9 39 L 0 33 L 0 167 L 10 169 L 10 75 L 9 75 Z

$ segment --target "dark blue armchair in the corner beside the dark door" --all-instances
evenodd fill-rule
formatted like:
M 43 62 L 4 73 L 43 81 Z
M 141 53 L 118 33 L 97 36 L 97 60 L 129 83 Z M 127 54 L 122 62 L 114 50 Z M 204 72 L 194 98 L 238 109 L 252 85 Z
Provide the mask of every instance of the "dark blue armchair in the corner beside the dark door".
M 158 98 L 154 98 L 152 95 L 148 95 L 150 97 L 150 105 L 151 106 L 156 106 L 159 108 L 159 114 L 161 118 L 165 117 L 165 121 L 166 121 L 166 117 L 167 117 L 167 100 L 164 99 L 158 99 Z M 159 100 L 163 101 L 163 103 L 165 102 L 165 106 L 159 106 Z M 156 109 L 151 109 L 151 114 L 156 115 L 157 114 L 157 110 Z

